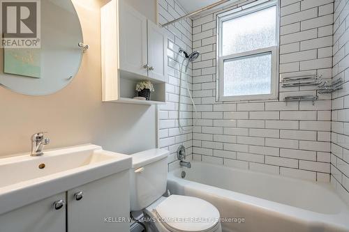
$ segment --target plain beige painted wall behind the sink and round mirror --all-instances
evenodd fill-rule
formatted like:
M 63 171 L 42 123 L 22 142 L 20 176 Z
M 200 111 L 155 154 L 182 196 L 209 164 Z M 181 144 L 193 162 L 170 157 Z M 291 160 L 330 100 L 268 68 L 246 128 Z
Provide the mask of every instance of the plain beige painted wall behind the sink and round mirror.
M 31 97 L 0 88 L 0 156 L 29 153 L 31 134 L 47 131 L 49 148 L 94 143 L 133 153 L 156 146 L 155 107 L 101 101 L 99 10 L 103 1 L 73 0 L 90 45 L 73 82 L 53 95 Z

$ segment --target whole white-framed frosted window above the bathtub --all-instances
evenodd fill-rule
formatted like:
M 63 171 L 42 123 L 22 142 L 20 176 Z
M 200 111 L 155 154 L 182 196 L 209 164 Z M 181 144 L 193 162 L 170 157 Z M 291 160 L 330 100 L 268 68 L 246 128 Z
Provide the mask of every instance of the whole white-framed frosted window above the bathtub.
M 277 98 L 279 17 L 276 1 L 217 16 L 218 100 Z

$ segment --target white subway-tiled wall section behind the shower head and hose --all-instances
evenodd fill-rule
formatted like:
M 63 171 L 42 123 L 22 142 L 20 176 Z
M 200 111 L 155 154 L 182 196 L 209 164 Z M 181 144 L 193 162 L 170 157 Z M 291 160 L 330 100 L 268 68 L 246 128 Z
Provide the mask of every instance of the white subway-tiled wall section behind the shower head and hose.
M 158 0 L 158 22 L 164 24 L 177 17 L 185 15 L 184 10 L 174 0 Z M 159 147 L 170 150 L 168 157 L 169 168 L 177 167 L 176 152 L 180 145 L 186 147 L 186 153 L 191 159 L 192 153 L 192 132 L 182 132 L 179 129 L 178 113 L 179 108 L 179 65 L 183 61 L 183 55 L 179 54 L 179 47 L 187 52 L 192 51 L 192 20 L 186 19 L 167 26 L 168 30 L 168 84 L 166 84 L 167 104 L 159 107 Z M 192 89 L 192 68 L 188 68 L 188 85 Z M 181 123 L 192 125 L 192 104 L 186 86 L 182 82 L 181 88 Z M 205 95 L 205 93 L 203 93 Z M 207 159 L 207 162 L 211 160 Z

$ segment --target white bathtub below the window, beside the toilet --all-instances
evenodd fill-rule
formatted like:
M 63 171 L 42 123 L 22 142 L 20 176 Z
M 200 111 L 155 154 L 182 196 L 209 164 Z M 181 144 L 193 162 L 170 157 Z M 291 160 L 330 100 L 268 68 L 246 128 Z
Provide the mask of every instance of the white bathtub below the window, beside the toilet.
M 244 218 L 222 222 L 223 231 L 349 231 L 348 206 L 327 183 L 192 162 L 191 169 L 170 171 L 168 189 L 209 201 L 222 219 Z

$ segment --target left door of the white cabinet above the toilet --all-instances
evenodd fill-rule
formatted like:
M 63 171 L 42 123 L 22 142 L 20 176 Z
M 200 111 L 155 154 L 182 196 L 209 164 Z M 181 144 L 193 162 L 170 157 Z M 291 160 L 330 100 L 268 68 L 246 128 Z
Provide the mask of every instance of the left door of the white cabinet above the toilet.
M 120 1 L 120 69 L 147 76 L 147 18 Z

